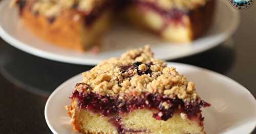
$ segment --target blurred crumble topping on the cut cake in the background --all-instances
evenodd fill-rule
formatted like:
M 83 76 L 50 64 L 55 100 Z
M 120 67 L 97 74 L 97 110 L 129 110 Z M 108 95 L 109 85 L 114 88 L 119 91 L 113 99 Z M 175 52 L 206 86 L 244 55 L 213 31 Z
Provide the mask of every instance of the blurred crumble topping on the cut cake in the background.
M 10 5 L 15 5 L 18 1 L 12 0 Z M 26 1 L 26 0 L 23 0 Z M 108 0 L 109 1 L 109 0 Z M 123 0 L 124 1 L 124 0 Z M 183 9 L 191 10 L 204 6 L 208 0 L 130 0 L 131 2 L 147 2 L 158 5 L 163 9 Z M 34 0 L 31 7 L 34 13 L 44 14 L 47 17 L 57 16 L 63 10 L 77 9 L 84 13 L 90 13 L 95 7 L 100 7 L 105 0 Z

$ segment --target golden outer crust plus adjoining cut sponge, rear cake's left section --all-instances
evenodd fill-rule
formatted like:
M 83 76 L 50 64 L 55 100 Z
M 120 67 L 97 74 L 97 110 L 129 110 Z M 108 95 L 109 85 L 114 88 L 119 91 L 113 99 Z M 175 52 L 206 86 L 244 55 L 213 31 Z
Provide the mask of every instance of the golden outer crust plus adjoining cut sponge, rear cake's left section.
M 106 10 L 93 24 L 84 24 L 84 14 L 75 10 L 62 11 L 58 16 L 45 16 L 33 12 L 33 0 L 27 0 L 21 11 L 24 24 L 37 36 L 68 49 L 83 51 L 98 44 L 109 29 L 111 14 Z

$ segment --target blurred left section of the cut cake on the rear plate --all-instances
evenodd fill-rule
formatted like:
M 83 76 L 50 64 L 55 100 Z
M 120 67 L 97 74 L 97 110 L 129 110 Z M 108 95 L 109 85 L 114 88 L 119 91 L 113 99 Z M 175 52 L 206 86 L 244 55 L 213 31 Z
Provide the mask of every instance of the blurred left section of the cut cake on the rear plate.
M 87 50 L 110 27 L 109 0 L 14 0 L 33 33 L 66 48 Z

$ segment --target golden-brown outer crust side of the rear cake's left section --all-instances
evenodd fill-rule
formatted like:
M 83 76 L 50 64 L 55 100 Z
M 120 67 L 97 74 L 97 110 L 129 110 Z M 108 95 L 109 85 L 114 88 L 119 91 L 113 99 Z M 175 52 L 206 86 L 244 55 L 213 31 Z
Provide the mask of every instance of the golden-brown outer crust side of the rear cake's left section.
M 52 18 L 54 22 L 50 22 L 51 20 L 49 21 L 49 19 L 51 18 L 41 14 L 35 15 L 30 10 L 31 3 L 27 2 L 28 4 L 23 9 L 21 17 L 24 24 L 33 33 L 53 44 L 65 48 L 83 50 L 80 37 L 82 21 L 73 21 L 74 16 L 79 14 L 67 11 L 56 18 Z

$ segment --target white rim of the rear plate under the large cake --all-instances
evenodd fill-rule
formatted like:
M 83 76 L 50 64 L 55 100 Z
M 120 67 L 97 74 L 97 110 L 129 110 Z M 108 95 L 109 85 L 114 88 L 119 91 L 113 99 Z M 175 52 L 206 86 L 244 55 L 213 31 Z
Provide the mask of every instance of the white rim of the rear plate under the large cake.
M 219 0 L 219 1 L 223 2 L 223 0 Z M 223 4 L 227 4 L 227 3 L 223 2 Z M 8 5 L 8 0 L 1 1 L 0 2 L 0 11 L 6 5 Z M 233 10 L 231 6 L 229 6 L 229 8 L 230 8 L 230 10 L 232 10 L 234 18 L 236 18 L 234 20 L 236 20 L 236 21 L 234 21 L 230 24 L 230 27 L 228 30 L 226 30 L 226 33 L 222 33 L 223 34 L 222 38 L 217 38 L 215 41 L 212 41 L 210 44 L 205 45 L 203 48 L 195 49 L 193 51 L 187 51 L 185 53 L 180 53 L 179 56 L 178 55 L 173 56 L 172 58 L 162 56 L 161 59 L 162 60 L 174 60 L 174 59 L 178 59 L 178 58 L 195 55 L 202 51 L 216 47 L 217 45 L 220 45 L 220 43 L 224 42 L 226 39 L 231 37 L 234 34 L 234 32 L 237 30 L 238 25 L 240 23 L 240 14 L 237 10 Z M 79 65 L 97 65 L 100 62 L 99 59 L 91 59 L 91 58 L 82 59 L 82 58 L 77 58 L 77 57 L 72 57 L 72 56 L 62 56 L 62 55 L 59 55 L 58 53 L 49 52 L 46 50 L 35 48 L 31 45 L 28 45 L 26 43 L 23 43 L 22 41 L 15 39 L 12 35 L 10 35 L 7 31 L 4 30 L 1 23 L 0 23 L 0 36 L 3 38 L 3 40 L 5 40 L 10 45 L 12 45 L 20 50 L 23 50 L 27 53 L 30 53 L 34 56 L 41 57 L 41 58 L 58 61 L 58 62 L 64 62 L 64 63 L 79 64 Z

